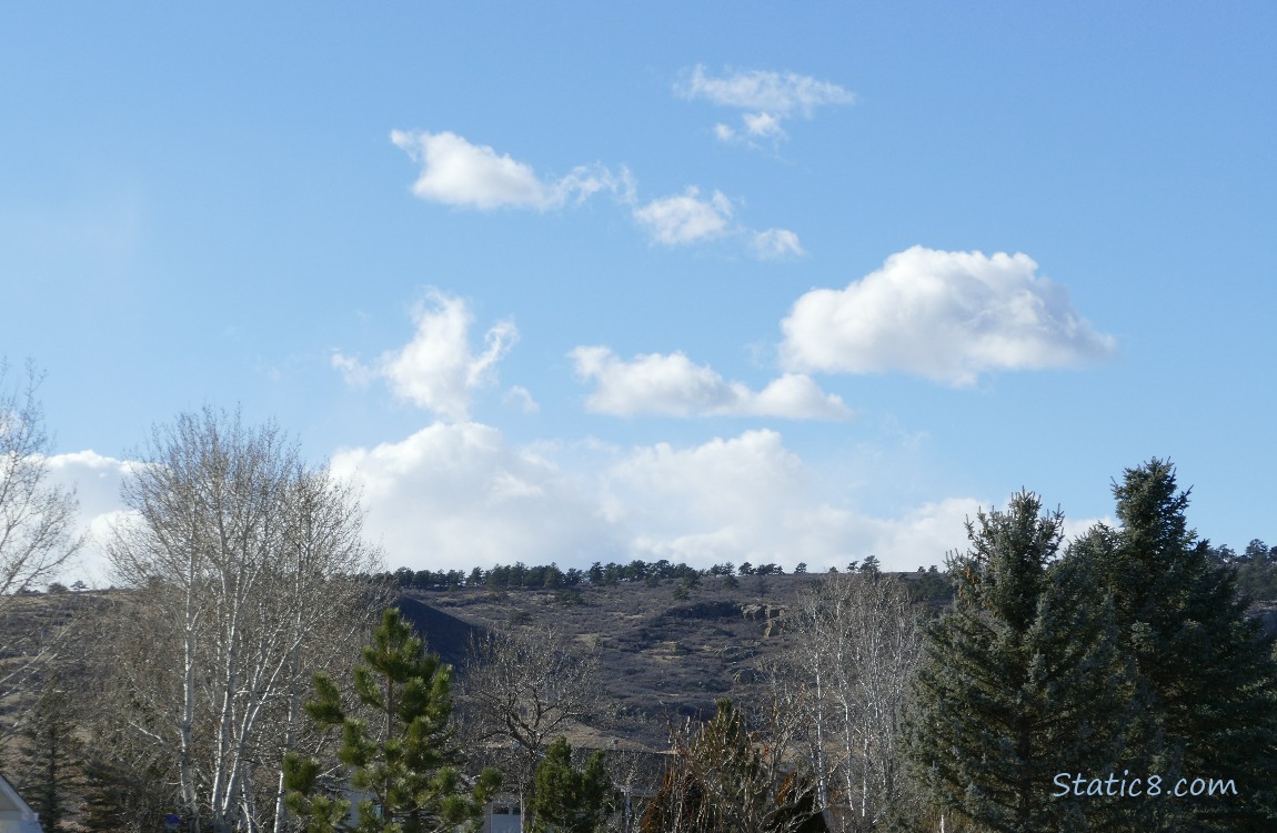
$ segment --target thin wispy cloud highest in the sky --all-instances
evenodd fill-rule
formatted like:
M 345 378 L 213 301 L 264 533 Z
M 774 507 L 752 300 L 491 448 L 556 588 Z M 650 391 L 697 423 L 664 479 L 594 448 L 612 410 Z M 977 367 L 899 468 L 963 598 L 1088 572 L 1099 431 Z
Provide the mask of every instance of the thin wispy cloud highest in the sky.
M 727 124 L 714 126 L 714 134 L 724 142 L 778 142 L 787 138 L 785 119 L 794 115 L 810 119 L 816 107 L 856 101 L 850 91 L 808 75 L 753 69 L 713 77 L 700 64 L 674 86 L 674 92 L 690 101 L 704 98 L 719 106 L 744 110 L 739 128 Z

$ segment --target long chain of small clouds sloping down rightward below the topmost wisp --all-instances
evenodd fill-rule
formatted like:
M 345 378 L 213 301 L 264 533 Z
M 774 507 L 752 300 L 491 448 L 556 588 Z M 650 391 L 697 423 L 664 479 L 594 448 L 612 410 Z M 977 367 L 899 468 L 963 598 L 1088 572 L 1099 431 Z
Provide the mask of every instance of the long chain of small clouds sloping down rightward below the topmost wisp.
M 798 235 L 788 229 L 755 231 L 734 222 L 732 201 L 718 190 L 702 197 L 700 189 L 690 187 L 682 194 L 644 202 L 626 169 L 613 172 L 603 165 L 590 165 L 559 179 L 543 178 L 526 162 L 455 133 L 395 130 L 391 141 L 420 164 L 412 193 L 429 202 L 479 211 L 545 212 L 605 193 L 659 245 L 692 245 L 736 236 L 759 259 L 805 254 Z

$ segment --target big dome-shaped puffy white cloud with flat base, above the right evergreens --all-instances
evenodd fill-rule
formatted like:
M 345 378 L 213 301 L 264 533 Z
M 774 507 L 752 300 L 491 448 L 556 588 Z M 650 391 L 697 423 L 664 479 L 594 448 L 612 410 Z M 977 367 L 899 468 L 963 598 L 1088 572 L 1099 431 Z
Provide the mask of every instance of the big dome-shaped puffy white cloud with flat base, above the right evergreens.
M 802 295 L 782 322 L 790 371 L 904 372 L 954 386 L 1000 369 L 1079 367 L 1116 341 L 1025 254 L 913 247 L 845 289 Z

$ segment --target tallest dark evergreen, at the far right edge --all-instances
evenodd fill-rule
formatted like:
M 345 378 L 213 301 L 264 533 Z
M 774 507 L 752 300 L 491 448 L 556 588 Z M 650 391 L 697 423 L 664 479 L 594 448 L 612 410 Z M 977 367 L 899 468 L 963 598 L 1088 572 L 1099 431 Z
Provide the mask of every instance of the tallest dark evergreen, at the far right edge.
M 1101 567 L 1147 692 L 1142 746 L 1170 783 L 1231 778 L 1239 793 L 1168 806 L 1185 829 L 1277 829 L 1272 643 L 1246 617 L 1235 570 L 1213 563 L 1209 543 L 1189 528 L 1189 493 L 1168 461 L 1128 469 L 1114 496 L 1121 525 L 1097 526 L 1078 549 Z

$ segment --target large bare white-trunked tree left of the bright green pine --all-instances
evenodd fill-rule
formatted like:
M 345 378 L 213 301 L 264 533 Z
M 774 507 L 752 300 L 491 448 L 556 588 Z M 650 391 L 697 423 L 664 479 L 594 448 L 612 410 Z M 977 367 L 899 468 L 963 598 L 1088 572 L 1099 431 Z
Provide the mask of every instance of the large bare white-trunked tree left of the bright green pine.
M 121 714 L 171 750 L 197 824 L 278 829 L 300 700 L 372 620 L 356 576 L 377 558 L 358 502 L 273 424 L 212 409 L 157 428 L 123 494 L 135 517 L 109 554 L 137 594 L 116 661 Z

